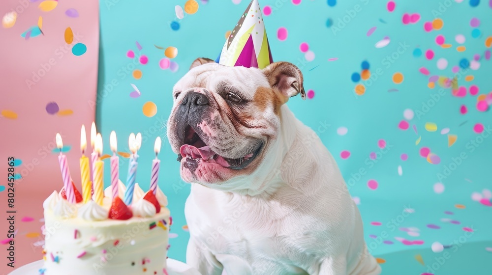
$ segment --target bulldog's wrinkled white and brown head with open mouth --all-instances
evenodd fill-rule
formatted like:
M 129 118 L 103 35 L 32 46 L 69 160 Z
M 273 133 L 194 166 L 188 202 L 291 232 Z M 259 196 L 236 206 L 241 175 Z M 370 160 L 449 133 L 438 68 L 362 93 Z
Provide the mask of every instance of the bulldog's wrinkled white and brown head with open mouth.
M 261 164 L 277 139 L 280 106 L 301 93 L 291 63 L 263 70 L 227 67 L 198 58 L 173 89 L 167 135 L 187 182 L 224 183 Z

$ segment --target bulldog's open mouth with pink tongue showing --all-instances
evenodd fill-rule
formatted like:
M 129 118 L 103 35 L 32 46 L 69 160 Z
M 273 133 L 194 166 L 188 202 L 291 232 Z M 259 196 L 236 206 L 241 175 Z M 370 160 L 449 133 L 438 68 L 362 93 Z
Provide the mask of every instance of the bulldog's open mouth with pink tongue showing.
M 184 137 L 184 144 L 180 148 L 178 161 L 181 162 L 182 159 L 185 159 L 185 164 L 190 167 L 196 167 L 200 162 L 206 162 L 231 169 L 243 169 L 254 160 L 261 149 L 260 144 L 254 152 L 244 157 L 228 159 L 215 153 L 189 125 L 186 126 Z

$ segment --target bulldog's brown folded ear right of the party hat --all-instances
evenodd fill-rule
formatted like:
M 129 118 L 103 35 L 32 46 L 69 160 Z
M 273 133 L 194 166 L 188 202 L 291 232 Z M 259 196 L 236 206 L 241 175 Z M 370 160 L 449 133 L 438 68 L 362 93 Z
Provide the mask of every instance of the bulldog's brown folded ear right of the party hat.
M 263 73 L 270 86 L 285 96 L 286 101 L 299 93 L 303 99 L 306 99 L 303 74 L 296 65 L 289 62 L 275 62 L 263 69 Z

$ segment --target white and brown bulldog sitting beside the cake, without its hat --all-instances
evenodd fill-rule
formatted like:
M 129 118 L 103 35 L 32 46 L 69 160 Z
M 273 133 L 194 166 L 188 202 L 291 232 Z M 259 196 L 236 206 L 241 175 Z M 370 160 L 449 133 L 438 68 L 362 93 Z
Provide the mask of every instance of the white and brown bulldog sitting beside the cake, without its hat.
M 167 135 L 191 183 L 186 262 L 203 275 L 377 275 L 335 160 L 285 104 L 303 75 L 196 59 Z

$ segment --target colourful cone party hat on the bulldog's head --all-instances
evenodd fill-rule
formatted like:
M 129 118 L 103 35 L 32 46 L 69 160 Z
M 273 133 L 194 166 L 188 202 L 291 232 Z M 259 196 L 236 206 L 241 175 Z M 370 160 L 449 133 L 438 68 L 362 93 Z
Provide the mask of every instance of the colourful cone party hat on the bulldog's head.
M 260 4 L 252 0 L 225 41 L 215 62 L 226 66 L 263 69 L 273 63 Z

